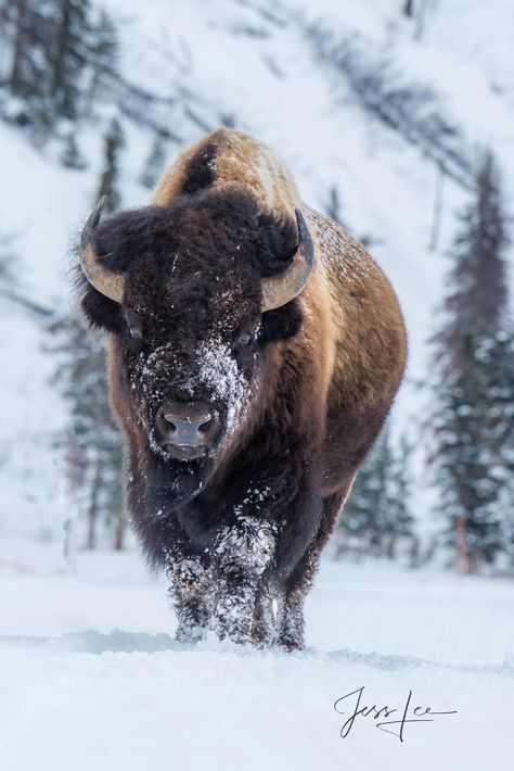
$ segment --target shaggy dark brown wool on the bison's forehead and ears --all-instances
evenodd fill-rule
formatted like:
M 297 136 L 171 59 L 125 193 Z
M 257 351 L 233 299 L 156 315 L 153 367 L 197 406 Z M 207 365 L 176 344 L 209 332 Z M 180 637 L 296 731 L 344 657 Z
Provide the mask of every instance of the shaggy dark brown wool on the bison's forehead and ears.
M 129 292 L 132 285 L 138 287 L 133 303 L 146 304 L 154 314 L 159 311 L 154 287 L 162 276 L 174 276 L 175 313 L 169 314 L 165 295 L 159 298 L 160 311 L 167 324 L 194 327 L 187 344 L 190 350 L 202 327 L 208 329 L 211 321 L 203 314 L 191 318 L 190 308 L 204 309 L 216 285 L 235 292 L 246 315 L 252 305 L 254 316 L 260 316 L 259 280 L 285 270 L 297 249 L 297 231 L 293 219 L 279 222 L 271 214 L 259 214 L 248 193 L 206 190 L 195 197 L 181 195 L 169 206 L 129 210 L 102 220 L 95 249 L 110 270 L 128 275 Z M 193 286 L 191 273 L 200 277 Z M 79 282 L 90 321 L 113 332 L 126 331 L 121 306 L 91 287 L 81 270 Z M 140 296 L 141 287 L 146 296 Z M 262 320 L 259 338 L 265 342 L 296 334 L 301 316 L 293 301 Z

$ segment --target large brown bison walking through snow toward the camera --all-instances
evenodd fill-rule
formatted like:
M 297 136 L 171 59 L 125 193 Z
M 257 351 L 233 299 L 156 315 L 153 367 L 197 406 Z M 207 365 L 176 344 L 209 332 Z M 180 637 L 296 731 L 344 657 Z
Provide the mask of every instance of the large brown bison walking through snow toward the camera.
M 128 506 L 177 639 L 301 648 L 321 549 L 402 378 L 395 292 L 240 131 L 185 150 L 151 205 L 102 206 L 81 306 L 108 333 Z

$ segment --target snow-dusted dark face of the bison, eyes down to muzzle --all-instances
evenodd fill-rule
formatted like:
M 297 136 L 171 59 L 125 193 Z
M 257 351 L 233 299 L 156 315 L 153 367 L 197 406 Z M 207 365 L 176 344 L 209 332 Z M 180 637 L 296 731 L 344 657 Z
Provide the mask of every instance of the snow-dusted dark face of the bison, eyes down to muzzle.
M 150 308 L 137 290 L 127 300 L 119 374 L 151 451 L 189 462 L 215 455 L 242 425 L 258 399 L 267 355 L 258 304 L 253 309 L 221 281 L 211 292 L 198 287 L 196 271 L 180 280 L 179 258 L 175 281 L 160 282 Z

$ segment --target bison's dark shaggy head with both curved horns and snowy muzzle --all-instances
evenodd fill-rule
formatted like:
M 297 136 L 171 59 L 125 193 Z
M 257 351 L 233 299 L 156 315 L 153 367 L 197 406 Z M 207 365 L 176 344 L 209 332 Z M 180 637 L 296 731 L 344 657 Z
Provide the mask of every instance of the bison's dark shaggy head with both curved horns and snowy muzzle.
M 273 341 L 297 333 L 312 241 L 299 211 L 262 213 L 240 191 L 100 222 L 102 206 L 81 237 L 82 307 L 112 333 L 114 406 L 160 465 L 194 473 L 261 401 Z

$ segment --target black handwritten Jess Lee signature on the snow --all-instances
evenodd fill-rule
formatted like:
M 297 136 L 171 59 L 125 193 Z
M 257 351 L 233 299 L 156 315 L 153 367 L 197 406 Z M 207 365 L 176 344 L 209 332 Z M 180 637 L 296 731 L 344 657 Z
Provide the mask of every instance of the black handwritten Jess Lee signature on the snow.
M 446 712 L 436 712 L 432 709 L 432 707 L 420 706 L 412 708 L 412 691 L 409 691 L 409 695 L 402 707 L 389 707 L 388 705 L 377 707 L 376 704 L 372 707 L 362 706 L 361 700 L 364 687 L 365 686 L 363 685 L 361 688 L 357 688 L 357 691 L 351 691 L 351 693 L 340 696 L 340 698 L 334 703 L 334 709 L 339 715 L 347 715 L 348 712 L 345 710 L 348 708 L 350 708 L 350 710 L 352 709 L 350 717 L 345 721 L 343 728 L 340 729 L 342 738 L 346 738 L 348 736 L 357 718 L 372 717 L 375 721 L 380 720 L 380 722 L 375 723 L 377 729 L 385 731 L 386 733 L 390 733 L 394 736 L 397 736 L 400 742 L 403 742 L 403 732 L 407 723 L 433 723 L 436 715 L 455 715 L 458 711 L 457 709 L 451 709 Z M 355 697 L 354 702 L 351 700 L 351 697 Z M 389 718 L 389 716 L 394 712 L 397 712 L 395 718 L 393 720 L 387 720 L 387 718 Z M 399 717 L 400 713 L 401 717 Z

